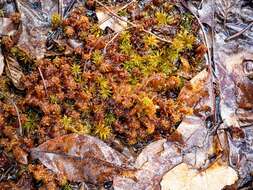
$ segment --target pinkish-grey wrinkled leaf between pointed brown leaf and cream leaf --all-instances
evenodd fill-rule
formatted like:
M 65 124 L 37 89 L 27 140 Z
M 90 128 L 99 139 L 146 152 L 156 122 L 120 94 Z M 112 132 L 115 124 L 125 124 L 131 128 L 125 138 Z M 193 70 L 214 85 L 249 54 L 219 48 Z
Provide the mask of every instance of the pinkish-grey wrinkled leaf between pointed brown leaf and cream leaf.
M 136 181 L 116 176 L 113 180 L 115 190 L 158 189 L 162 176 L 182 162 L 180 149 L 175 142 L 166 139 L 149 144 L 135 161 Z

